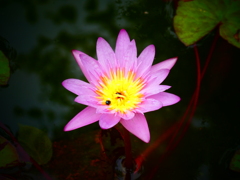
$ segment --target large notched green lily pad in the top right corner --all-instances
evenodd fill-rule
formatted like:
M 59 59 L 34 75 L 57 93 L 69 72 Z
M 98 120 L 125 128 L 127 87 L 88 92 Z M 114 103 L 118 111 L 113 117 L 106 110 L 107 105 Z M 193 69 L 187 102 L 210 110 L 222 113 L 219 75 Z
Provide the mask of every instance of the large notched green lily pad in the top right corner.
M 220 36 L 240 48 L 239 0 L 179 1 L 174 29 L 186 46 L 197 42 L 218 24 Z

